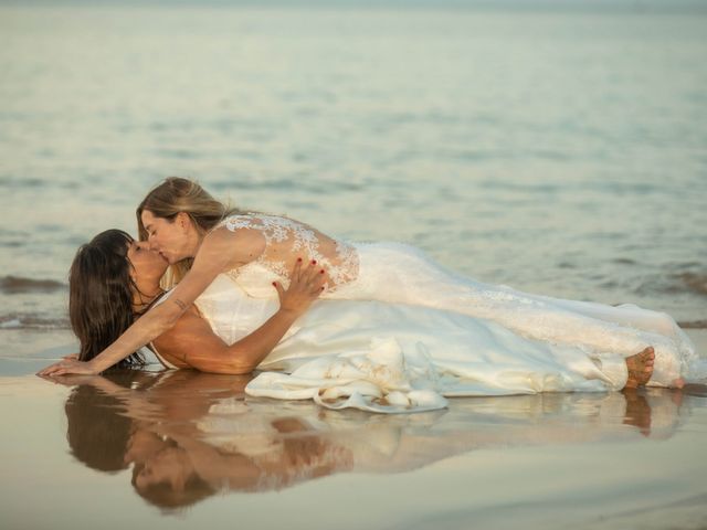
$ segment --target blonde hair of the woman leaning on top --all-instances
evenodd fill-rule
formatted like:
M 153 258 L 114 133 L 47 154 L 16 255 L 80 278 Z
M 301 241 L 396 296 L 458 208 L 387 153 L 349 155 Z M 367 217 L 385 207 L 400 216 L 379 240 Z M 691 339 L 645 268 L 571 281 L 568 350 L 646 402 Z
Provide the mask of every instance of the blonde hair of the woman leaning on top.
M 145 210 L 149 210 L 156 218 L 167 219 L 170 222 L 173 221 L 178 213 L 183 212 L 189 215 L 194 227 L 202 236 L 224 218 L 233 213 L 244 213 L 236 208 L 231 208 L 215 200 L 211 193 L 193 180 L 181 177 L 165 179 L 165 181 L 149 191 L 135 210 L 140 241 L 147 241 L 147 230 L 143 224 L 143 212 Z M 188 257 L 170 265 L 162 278 L 162 287 L 170 288 L 179 283 L 192 264 L 193 258 Z

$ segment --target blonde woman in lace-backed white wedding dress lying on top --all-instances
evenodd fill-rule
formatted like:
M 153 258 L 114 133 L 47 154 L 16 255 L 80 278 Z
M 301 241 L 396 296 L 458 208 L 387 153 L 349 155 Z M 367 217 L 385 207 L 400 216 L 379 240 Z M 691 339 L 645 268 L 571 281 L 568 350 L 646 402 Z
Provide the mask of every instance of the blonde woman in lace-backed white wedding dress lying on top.
M 220 274 L 238 282 L 251 297 L 275 301 L 272 283 L 282 292 L 289 279 L 287 271 L 298 258 L 323 267 L 326 299 L 440 309 L 454 318 L 493 321 L 530 341 L 580 349 L 594 359 L 627 358 L 652 347 L 656 385 L 680 385 L 684 378 L 699 373 L 694 346 L 665 314 L 482 284 L 443 269 L 410 246 L 351 244 L 287 218 L 229 211 L 186 179 L 167 179 L 137 213 L 141 239 L 172 265 L 177 287 L 167 303 L 150 309 L 97 357 L 61 361 L 42 373 L 97 373 L 119 362 L 170 329 Z

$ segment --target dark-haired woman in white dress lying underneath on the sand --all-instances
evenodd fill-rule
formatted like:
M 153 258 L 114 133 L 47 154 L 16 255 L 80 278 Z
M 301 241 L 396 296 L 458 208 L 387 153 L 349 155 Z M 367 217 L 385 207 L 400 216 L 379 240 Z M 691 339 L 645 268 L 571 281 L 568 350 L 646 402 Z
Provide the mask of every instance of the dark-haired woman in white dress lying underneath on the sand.
M 82 359 L 97 354 L 146 306 L 169 300 L 171 293 L 159 288 L 167 266 L 146 243 L 117 230 L 78 250 L 70 316 Z M 251 395 L 373 412 L 441 409 L 445 395 L 620 390 L 646 383 L 653 371 L 652 348 L 624 359 L 423 306 L 317 299 L 319 271 L 296 263 L 279 303 L 250 297 L 219 275 L 151 349 L 168 368 L 257 368 L 263 373 L 246 386 Z

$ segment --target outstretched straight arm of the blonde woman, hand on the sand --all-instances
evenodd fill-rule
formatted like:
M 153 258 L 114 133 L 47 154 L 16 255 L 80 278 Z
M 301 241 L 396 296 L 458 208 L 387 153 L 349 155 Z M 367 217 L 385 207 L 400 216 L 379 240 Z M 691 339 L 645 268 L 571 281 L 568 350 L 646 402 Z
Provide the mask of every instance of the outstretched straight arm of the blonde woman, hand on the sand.
M 236 241 L 234 236 L 238 236 Z M 91 361 L 60 361 L 42 370 L 40 375 L 93 374 L 110 368 L 175 326 L 220 273 L 251 262 L 262 254 L 264 247 L 262 234 L 255 231 L 230 232 L 223 229 L 211 232 L 204 237 L 191 271 L 175 287 L 165 304 L 147 311 L 118 340 Z

